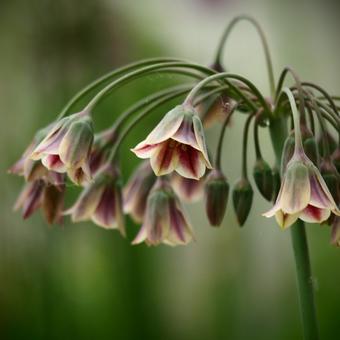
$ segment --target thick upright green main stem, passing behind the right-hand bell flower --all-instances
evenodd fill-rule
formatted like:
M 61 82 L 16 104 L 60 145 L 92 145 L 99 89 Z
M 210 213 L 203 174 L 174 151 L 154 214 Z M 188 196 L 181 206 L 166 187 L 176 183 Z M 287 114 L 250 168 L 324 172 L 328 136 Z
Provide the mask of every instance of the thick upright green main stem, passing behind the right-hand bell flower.
M 281 163 L 283 144 L 287 136 L 287 124 L 283 118 L 274 118 L 270 124 L 277 166 Z M 308 243 L 304 223 L 300 220 L 291 226 L 291 238 L 296 266 L 298 296 L 301 319 L 305 340 L 318 339 L 318 325 L 316 318 L 314 289 L 312 284 L 311 266 L 309 260 Z

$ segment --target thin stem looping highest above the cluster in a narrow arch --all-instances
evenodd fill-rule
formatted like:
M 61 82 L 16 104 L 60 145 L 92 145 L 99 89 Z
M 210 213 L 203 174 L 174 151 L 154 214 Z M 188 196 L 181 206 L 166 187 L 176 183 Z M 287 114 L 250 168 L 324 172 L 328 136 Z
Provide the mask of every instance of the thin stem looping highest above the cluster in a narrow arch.
M 230 24 L 227 26 L 227 28 L 224 31 L 222 38 L 220 40 L 220 43 L 219 43 L 219 46 L 218 46 L 218 49 L 217 49 L 217 53 L 216 53 L 216 57 L 215 57 L 215 65 L 221 65 L 221 57 L 222 57 L 222 52 L 223 52 L 225 43 L 226 43 L 230 33 L 232 32 L 234 26 L 242 20 L 250 22 L 256 28 L 257 32 L 260 35 L 261 43 L 262 43 L 265 58 L 266 58 L 266 65 L 267 65 L 267 70 L 268 70 L 270 91 L 271 91 L 272 96 L 274 96 L 275 80 L 274 80 L 274 72 L 273 72 L 273 63 L 272 63 L 272 60 L 271 60 L 271 57 L 270 57 L 270 51 L 269 51 L 266 36 L 264 34 L 264 31 L 262 30 L 262 27 L 256 21 L 256 19 L 254 19 L 250 16 L 247 16 L 247 15 L 239 15 L 230 22 Z

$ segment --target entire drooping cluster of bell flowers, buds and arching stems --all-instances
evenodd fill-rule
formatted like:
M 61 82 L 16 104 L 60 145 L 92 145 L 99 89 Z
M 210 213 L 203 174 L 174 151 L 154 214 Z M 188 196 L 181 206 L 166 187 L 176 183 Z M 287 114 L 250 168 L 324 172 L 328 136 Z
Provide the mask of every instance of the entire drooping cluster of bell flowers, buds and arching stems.
M 142 224 L 133 244 L 187 244 L 194 236 L 182 202 L 191 203 L 204 196 L 210 224 L 220 226 L 223 222 L 230 191 L 221 167 L 223 140 L 231 116 L 238 112 L 247 117 L 242 148 L 229 141 L 242 159 L 241 177 L 231 189 L 238 224 L 243 226 L 249 217 L 255 185 L 263 198 L 275 202 L 264 216 L 275 216 L 283 229 L 297 219 L 327 223 L 332 226 L 331 242 L 339 246 L 340 144 L 333 135 L 340 136 L 340 116 L 333 98 L 320 86 L 302 82 L 288 68 L 276 88 L 272 81 L 272 95 L 267 98 L 247 78 L 224 72 L 220 60 L 213 65 L 208 68 L 158 59 L 119 69 L 117 75 L 125 74 L 118 79 L 112 73 L 112 82 L 84 110 L 73 114 L 63 111 L 61 118 L 35 135 L 11 167 L 11 173 L 27 182 L 15 208 L 22 209 L 24 218 L 42 208 L 49 223 L 60 223 L 64 215 L 70 215 L 73 222 L 92 220 L 100 227 L 118 229 L 123 236 L 124 215 L 129 214 Z M 171 70 L 190 75 L 188 69 L 195 72 L 195 79 L 201 79 L 198 83 L 156 92 L 133 105 L 111 128 L 94 134 L 93 109 L 109 91 L 136 75 Z M 291 88 L 283 88 L 287 73 L 295 79 Z M 185 100 L 131 149 L 143 161 L 123 186 L 117 154 L 126 135 L 153 109 L 181 95 L 186 95 Z M 290 117 L 294 124 L 288 131 Z M 216 123 L 221 129 L 214 153 L 208 149 L 205 130 L 216 127 Z M 253 180 L 248 176 L 247 163 L 252 123 L 256 156 Z M 317 123 L 319 128 L 315 128 Z M 266 128 L 277 158 L 273 167 L 261 152 L 259 132 Z M 330 132 L 331 128 L 334 131 Z M 67 178 L 82 187 L 69 209 L 64 208 Z

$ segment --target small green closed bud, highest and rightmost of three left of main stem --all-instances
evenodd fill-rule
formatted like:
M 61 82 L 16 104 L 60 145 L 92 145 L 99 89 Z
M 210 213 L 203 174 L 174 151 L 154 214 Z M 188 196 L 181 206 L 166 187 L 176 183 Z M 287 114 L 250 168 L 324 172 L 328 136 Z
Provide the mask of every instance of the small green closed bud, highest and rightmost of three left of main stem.
M 262 158 L 256 160 L 253 169 L 254 180 L 262 196 L 270 201 L 273 197 L 272 169 Z

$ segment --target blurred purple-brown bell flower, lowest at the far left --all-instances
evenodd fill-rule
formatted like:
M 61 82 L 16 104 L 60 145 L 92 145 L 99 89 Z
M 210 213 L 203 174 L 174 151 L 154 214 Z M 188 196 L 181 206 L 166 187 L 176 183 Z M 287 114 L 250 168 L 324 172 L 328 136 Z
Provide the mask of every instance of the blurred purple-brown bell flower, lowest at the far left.
M 62 184 L 53 185 L 42 179 L 27 182 L 14 205 L 14 210 L 21 209 L 22 216 L 26 219 L 42 208 L 48 223 L 61 223 L 64 193 L 65 186 Z

